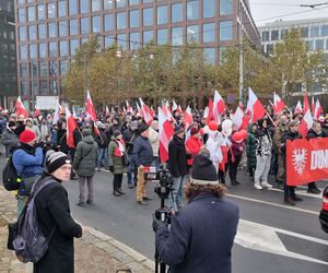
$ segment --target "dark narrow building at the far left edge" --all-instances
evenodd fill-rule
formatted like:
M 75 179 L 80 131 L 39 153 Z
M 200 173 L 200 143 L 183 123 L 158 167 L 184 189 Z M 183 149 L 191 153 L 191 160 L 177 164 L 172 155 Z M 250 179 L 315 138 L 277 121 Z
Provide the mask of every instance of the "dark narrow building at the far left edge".
M 0 106 L 12 108 L 16 96 L 14 0 L 0 0 Z

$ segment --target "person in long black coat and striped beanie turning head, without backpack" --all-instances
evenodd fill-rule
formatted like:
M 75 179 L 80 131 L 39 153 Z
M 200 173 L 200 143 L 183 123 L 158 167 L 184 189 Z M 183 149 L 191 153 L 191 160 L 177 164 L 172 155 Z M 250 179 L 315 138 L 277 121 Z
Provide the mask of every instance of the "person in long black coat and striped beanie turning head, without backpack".
M 34 273 L 73 273 L 73 238 L 80 238 L 84 229 L 70 214 L 66 189 L 61 186 L 70 180 L 71 164 L 62 152 L 52 152 L 46 162 L 47 171 L 40 182 L 52 180 L 35 198 L 37 219 L 45 236 L 52 236 L 45 256 L 34 263 Z

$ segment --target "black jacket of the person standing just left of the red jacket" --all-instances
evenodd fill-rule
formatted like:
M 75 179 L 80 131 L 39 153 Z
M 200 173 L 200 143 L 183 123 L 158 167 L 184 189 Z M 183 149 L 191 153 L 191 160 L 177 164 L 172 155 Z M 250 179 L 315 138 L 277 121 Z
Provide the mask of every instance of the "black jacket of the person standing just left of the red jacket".
M 188 175 L 185 140 L 174 135 L 168 143 L 167 168 L 173 177 Z

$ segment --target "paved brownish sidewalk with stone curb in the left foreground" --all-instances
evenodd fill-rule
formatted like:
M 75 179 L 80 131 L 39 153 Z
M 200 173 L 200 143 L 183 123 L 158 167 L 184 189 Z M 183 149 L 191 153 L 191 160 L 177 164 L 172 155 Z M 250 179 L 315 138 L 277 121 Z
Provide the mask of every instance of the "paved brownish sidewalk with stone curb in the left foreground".
M 0 273 L 33 272 L 32 263 L 21 263 L 13 251 L 7 249 L 7 223 L 15 219 L 14 195 L 0 186 Z M 81 239 L 74 239 L 74 247 L 78 273 L 154 272 L 154 262 L 147 257 L 91 227 L 87 227 L 87 232 Z

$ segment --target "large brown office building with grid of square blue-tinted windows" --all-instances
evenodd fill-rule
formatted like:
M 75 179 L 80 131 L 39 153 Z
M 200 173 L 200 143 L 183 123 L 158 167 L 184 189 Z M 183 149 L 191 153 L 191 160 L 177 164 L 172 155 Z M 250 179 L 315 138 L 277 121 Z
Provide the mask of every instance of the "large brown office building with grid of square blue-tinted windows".
M 204 47 L 209 62 L 237 45 L 260 46 L 247 0 L 15 0 L 19 86 L 23 99 L 60 95 L 77 48 L 99 34 L 102 47 L 133 50 L 147 43 Z M 239 32 L 242 29 L 242 32 Z

